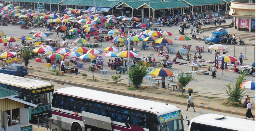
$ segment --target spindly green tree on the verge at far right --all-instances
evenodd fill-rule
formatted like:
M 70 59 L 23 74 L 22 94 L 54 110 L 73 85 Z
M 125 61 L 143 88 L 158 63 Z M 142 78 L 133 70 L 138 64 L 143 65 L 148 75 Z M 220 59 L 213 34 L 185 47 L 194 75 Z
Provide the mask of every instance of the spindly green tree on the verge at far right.
M 233 88 L 231 87 L 231 83 L 228 85 L 224 85 L 227 87 L 224 89 L 226 90 L 226 93 L 229 95 L 227 102 L 230 102 L 232 104 L 241 103 L 241 100 L 245 93 L 243 93 L 244 89 L 240 89 L 240 85 L 246 80 L 245 76 L 245 74 L 240 74 L 237 77 L 235 84 L 231 82 Z

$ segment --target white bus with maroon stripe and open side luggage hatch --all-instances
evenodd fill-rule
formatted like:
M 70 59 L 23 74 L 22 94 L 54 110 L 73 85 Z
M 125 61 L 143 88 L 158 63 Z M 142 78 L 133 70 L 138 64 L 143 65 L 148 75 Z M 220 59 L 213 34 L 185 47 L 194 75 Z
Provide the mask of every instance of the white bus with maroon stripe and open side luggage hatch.
M 177 106 L 81 87 L 54 91 L 52 120 L 71 131 L 184 131 Z

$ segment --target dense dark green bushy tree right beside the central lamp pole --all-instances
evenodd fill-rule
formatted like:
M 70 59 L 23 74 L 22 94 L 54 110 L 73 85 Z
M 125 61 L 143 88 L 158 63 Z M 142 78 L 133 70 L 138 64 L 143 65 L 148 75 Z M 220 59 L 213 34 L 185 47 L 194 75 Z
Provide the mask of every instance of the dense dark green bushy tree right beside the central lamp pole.
M 129 78 L 131 83 L 134 85 L 135 88 L 139 88 L 143 82 L 144 76 L 147 75 L 147 69 L 149 66 L 144 66 L 143 61 L 140 61 L 137 65 L 130 68 L 128 72 Z

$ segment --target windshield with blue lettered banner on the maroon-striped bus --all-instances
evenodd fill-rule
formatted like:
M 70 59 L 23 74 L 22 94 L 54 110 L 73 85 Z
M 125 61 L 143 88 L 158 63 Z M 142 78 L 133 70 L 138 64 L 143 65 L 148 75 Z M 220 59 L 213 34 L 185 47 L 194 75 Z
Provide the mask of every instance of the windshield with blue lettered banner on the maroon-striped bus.
M 159 116 L 160 131 L 184 131 L 181 111 Z

